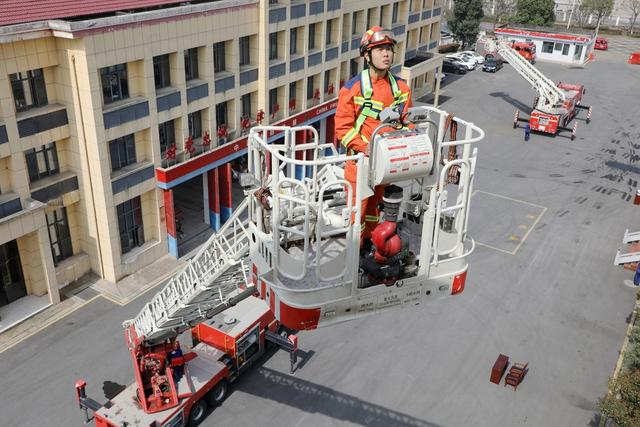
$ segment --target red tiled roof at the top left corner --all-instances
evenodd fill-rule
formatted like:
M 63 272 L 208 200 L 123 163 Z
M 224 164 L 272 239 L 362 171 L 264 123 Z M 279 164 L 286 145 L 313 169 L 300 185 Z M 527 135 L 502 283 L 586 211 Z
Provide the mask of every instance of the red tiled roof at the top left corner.
M 1 0 L 0 26 L 180 2 L 179 0 Z

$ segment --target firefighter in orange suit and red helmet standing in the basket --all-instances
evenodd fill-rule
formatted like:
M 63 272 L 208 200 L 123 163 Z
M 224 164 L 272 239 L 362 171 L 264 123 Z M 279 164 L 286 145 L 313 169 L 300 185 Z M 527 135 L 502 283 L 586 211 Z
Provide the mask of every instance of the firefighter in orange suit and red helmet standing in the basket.
M 396 107 L 406 112 L 411 107 L 411 90 L 390 72 L 397 41 L 393 33 L 382 27 L 371 27 L 360 41 L 360 56 L 365 68 L 340 89 L 335 115 L 335 133 L 347 154 L 369 155 L 369 139 L 380 124 L 379 114 L 387 107 Z M 357 167 L 349 161 L 345 165 L 344 177 L 355 189 Z M 384 187 L 378 186 L 374 194 L 362 200 L 360 245 L 370 246 L 371 232 L 378 224 L 378 205 L 382 202 Z

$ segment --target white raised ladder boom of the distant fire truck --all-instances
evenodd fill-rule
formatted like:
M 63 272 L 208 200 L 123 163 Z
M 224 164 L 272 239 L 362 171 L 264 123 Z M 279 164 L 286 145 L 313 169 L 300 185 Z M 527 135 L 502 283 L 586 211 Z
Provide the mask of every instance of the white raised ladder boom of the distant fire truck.
M 491 46 L 495 44 L 495 47 Z M 509 64 L 527 80 L 538 94 L 538 101 L 534 108 L 548 114 L 560 114 L 563 109 L 566 96 L 562 89 L 556 86 L 540 70 L 531 65 L 522 55 L 509 46 L 504 40 L 487 40 L 489 50 L 497 51 Z

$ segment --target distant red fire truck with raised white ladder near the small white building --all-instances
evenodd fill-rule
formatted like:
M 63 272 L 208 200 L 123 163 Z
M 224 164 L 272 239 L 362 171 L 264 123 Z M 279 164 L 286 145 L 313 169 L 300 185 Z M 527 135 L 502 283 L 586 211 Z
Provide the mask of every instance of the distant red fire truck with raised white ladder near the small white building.
M 580 110 L 587 111 L 586 123 L 591 121 L 593 107 L 582 105 L 582 97 L 586 89 L 581 84 L 553 83 L 536 67 L 517 53 L 509 42 L 504 40 L 487 39 L 485 46 L 497 51 L 507 62 L 511 64 L 536 91 L 533 109 L 529 118 L 520 117 L 520 110 L 514 113 L 513 127 L 518 127 L 518 122 L 528 122 L 531 131 L 556 135 L 559 132 L 570 132 L 571 140 L 576 137 L 578 123 L 574 122 L 569 127 Z

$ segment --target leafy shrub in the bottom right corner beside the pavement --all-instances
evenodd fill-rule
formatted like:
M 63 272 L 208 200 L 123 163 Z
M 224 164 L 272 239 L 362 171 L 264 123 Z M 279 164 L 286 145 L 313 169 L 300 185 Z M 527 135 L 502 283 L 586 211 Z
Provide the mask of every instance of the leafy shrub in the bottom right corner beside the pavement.
M 609 385 L 609 393 L 599 403 L 600 412 L 619 427 L 640 425 L 640 370 L 621 374 Z

